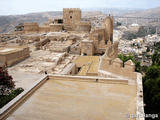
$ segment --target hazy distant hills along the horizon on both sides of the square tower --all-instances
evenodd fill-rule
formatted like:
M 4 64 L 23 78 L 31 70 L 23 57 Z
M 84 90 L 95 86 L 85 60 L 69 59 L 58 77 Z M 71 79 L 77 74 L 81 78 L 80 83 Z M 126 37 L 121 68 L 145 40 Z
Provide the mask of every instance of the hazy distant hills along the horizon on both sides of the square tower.
M 129 9 L 89 9 L 82 10 L 82 17 L 85 19 L 90 19 L 99 24 L 106 15 L 105 14 L 114 14 L 114 15 L 124 15 L 124 16 L 137 16 L 137 17 L 160 17 L 160 7 L 148 9 L 148 10 L 129 10 Z M 100 12 L 98 12 L 100 11 Z M 136 12 L 135 12 L 136 11 Z M 138 12 L 137 12 L 138 11 Z M 29 13 L 25 15 L 8 15 L 0 16 L 0 33 L 12 32 L 14 27 L 19 23 L 24 22 L 38 22 L 42 24 L 48 21 L 48 18 L 61 18 L 62 11 L 54 12 L 40 12 L 40 13 Z M 93 21 L 93 23 L 94 23 Z

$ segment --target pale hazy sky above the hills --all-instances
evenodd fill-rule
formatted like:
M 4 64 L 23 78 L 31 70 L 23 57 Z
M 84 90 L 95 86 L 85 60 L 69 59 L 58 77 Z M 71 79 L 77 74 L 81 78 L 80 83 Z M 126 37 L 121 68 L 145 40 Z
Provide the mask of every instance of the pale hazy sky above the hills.
M 0 0 L 0 15 L 62 10 L 63 8 L 153 8 L 160 0 Z

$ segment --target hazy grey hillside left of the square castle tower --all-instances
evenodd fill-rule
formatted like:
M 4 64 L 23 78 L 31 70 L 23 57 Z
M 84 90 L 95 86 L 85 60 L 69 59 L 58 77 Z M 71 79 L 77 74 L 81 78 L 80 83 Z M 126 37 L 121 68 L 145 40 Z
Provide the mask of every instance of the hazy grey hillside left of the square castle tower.
M 48 18 L 61 16 L 62 12 L 30 13 L 25 15 L 0 16 L 0 33 L 11 32 L 19 23 L 38 22 L 39 24 L 48 21 Z

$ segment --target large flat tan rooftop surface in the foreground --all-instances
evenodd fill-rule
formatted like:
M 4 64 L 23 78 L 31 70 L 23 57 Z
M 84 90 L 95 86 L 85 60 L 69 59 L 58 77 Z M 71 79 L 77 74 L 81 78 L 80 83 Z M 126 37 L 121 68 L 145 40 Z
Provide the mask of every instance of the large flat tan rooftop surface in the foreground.
M 136 86 L 55 77 L 7 120 L 128 120 L 136 112 Z

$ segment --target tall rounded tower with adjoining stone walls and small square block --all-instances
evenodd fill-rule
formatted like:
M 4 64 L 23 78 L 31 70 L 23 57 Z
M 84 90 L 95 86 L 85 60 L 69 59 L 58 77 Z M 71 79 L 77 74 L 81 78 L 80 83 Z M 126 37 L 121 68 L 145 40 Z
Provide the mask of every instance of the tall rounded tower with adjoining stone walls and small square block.
M 113 43 L 113 18 L 110 16 L 107 17 L 104 21 L 103 27 L 104 28 L 91 31 L 88 40 L 90 44 L 85 44 L 86 41 L 81 42 L 81 54 L 103 54 L 107 45 Z M 90 47 L 91 43 L 92 47 Z

